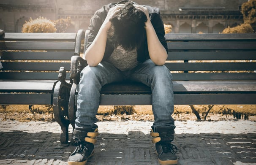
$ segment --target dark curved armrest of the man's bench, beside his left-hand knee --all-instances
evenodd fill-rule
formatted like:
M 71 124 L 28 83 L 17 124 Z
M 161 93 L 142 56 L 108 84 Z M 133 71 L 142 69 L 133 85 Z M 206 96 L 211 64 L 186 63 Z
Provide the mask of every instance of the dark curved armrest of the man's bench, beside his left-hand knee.
M 70 73 L 71 81 L 73 80 L 73 82 L 75 84 L 78 84 L 78 82 L 80 80 L 80 72 L 86 66 L 87 66 L 87 62 L 82 57 L 72 56 L 71 57 L 71 69 L 70 69 L 70 71 L 71 71 L 71 73 Z

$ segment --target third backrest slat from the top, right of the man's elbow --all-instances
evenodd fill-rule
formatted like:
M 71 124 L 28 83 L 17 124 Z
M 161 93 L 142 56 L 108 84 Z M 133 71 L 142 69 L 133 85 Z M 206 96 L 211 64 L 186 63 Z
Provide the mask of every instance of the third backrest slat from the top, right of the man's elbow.
M 169 51 L 167 60 L 256 60 L 256 51 Z

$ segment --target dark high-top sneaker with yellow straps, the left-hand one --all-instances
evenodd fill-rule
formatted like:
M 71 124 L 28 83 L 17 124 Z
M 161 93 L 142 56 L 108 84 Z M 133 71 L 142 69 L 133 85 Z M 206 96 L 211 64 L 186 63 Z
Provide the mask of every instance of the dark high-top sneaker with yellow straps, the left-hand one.
M 91 129 L 89 130 L 91 131 Z M 68 157 L 68 165 L 86 165 L 87 160 L 94 155 L 94 144 L 98 129 L 91 132 L 74 130 L 75 151 Z

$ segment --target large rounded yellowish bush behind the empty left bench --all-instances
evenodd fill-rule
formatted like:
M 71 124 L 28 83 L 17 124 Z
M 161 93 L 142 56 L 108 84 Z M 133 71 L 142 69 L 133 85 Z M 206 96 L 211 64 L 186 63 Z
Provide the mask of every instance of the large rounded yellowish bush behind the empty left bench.
M 56 32 L 54 27 L 54 22 L 44 18 L 39 17 L 37 19 L 32 19 L 22 26 L 22 32 Z

